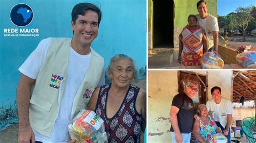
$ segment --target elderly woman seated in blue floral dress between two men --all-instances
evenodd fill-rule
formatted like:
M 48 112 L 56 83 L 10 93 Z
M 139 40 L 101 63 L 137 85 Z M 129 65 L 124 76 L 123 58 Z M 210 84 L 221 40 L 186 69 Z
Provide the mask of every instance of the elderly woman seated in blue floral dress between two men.
M 211 116 L 208 116 L 208 111 L 205 104 L 198 106 L 199 120 L 194 120 L 193 134 L 199 142 L 206 142 L 207 138 L 216 133 L 221 133 L 220 128 L 216 125 Z

